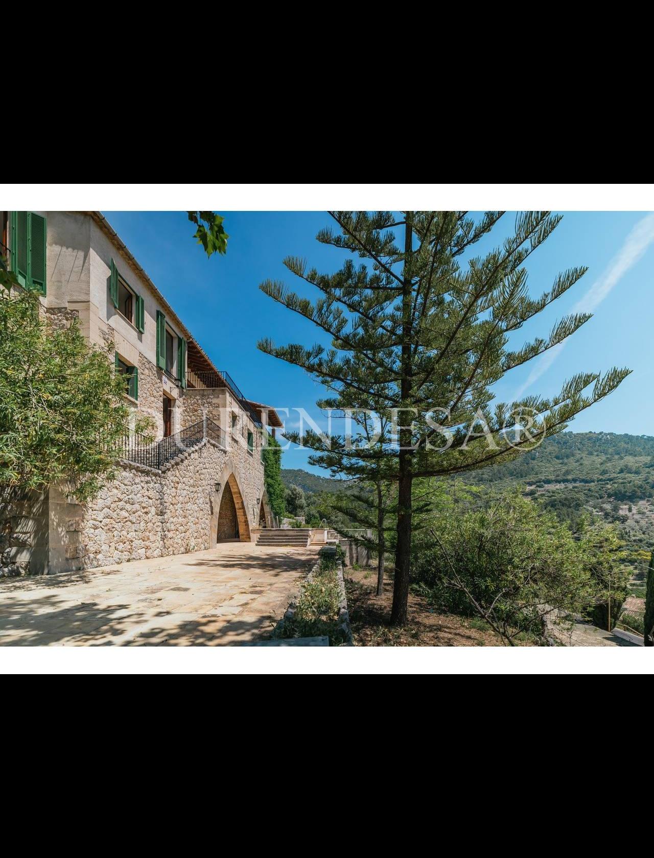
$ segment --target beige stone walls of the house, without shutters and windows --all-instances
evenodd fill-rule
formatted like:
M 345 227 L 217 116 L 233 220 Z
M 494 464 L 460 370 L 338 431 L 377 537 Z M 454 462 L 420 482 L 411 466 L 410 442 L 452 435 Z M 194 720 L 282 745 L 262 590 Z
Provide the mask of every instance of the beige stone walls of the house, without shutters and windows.
M 38 496 L 7 504 L 0 498 L 0 576 L 197 551 L 233 534 L 235 521 L 239 539 L 250 541 L 259 528 L 262 502 L 269 514 L 261 431 L 251 415 L 231 390 L 183 390 L 156 366 L 157 311 L 165 313 L 175 335 L 187 342 L 191 335 L 99 216 L 42 214 L 47 215 L 47 293 L 41 307 L 52 327 L 61 329 L 78 318 L 90 343 L 113 343 L 122 360 L 138 367 L 138 399 L 127 398 L 135 412 L 154 420 L 156 439 L 164 434 L 164 396 L 173 402 L 172 433 L 207 417 L 223 428 L 225 438 L 221 444 L 205 438 L 161 470 L 120 462 L 116 478 L 87 505 L 75 503 L 67 486 L 50 486 Z M 112 305 L 112 262 L 144 301 L 144 331 Z M 174 351 L 176 361 L 177 347 Z M 171 374 L 178 371 L 175 365 Z M 247 449 L 248 432 L 253 434 L 252 451 Z M 232 500 L 226 498 L 221 507 L 225 492 Z

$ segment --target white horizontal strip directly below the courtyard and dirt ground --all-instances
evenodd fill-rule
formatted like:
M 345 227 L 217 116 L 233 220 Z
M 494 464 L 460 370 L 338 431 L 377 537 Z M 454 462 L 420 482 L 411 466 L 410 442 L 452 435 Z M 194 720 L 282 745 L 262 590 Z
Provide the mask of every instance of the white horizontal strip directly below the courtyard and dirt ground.
M 651 674 L 643 647 L 1 647 L 0 674 Z

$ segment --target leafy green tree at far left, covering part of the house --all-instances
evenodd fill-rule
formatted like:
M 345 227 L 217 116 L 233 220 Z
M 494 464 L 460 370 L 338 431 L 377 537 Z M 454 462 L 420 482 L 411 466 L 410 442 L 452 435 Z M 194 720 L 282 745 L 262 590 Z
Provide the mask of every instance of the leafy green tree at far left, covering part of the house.
M 112 478 L 112 450 L 130 431 L 124 378 L 112 347 L 88 347 L 76 320 L 52 329 L 38 296 L 14 286 L 0 270 L 0 486 L 65 480 L 83 500 Z

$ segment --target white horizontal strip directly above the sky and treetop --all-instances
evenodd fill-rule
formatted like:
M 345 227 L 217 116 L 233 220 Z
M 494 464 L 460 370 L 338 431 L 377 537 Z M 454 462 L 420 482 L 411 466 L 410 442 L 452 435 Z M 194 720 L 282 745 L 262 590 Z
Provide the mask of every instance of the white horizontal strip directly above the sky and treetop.
M 651 211 L 654 184 L 0 184 L 2 208 L 36 211 L 548 209 Z

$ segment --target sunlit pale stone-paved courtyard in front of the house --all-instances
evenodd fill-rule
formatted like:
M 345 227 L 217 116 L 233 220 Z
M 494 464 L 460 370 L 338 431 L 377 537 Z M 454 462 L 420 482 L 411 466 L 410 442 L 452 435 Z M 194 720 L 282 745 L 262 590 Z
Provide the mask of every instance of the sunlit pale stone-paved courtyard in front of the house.
M 244 644 L 266 637 L 317 547 L 209 551 L 0 581 L 0 645 Z

